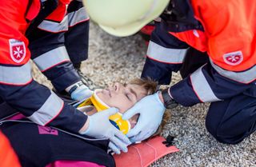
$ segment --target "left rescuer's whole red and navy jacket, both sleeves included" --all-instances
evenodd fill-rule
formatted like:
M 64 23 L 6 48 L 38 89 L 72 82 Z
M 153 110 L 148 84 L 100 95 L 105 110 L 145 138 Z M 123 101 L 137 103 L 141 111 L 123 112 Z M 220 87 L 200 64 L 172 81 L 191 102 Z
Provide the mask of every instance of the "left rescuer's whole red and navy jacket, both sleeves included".
M 0 98 L 39 125 L 78 132 L 86 115 L 34 81 L 30 55 L 59 91 L 80 80 L 69 54 L 84 42 L 82 2 L 3 0 L 0 10 Z

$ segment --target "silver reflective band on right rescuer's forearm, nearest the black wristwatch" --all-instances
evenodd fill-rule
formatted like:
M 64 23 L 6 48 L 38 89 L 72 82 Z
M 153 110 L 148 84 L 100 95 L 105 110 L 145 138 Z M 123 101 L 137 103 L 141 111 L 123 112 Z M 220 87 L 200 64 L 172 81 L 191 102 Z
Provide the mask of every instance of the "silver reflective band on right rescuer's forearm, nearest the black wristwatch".
M 221 101 L 210 88 L 209 83 L 202 73 L 202 67 L 190 75 L 194 92 L 202 102 Z

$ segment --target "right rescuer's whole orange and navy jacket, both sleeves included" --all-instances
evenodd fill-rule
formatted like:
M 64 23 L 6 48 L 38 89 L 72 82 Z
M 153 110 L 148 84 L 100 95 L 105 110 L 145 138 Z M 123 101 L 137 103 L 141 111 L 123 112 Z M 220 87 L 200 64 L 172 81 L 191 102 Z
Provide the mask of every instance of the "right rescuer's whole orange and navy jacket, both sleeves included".
M 170 83 L 191 46 L 207 52 L 210 62 L 170 87 L 182 105 L 256 96 L 256 2 L 253 0 L 173 0 L 173 15 L 156 22 L 142 77 Z M 188 55 L 189 56 L 189 55 Z

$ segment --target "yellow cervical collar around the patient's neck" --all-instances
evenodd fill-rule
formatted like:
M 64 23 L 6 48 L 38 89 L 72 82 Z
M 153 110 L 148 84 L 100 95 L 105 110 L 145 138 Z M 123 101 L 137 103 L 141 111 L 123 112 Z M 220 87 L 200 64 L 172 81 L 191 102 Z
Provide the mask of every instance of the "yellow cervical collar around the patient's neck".
M 78 105 L 77 107 L 82 107 L 82 106 L 86 106 L 86 105 L 94 105 L 94 107 L 96 108 L 96 110 L 98 112 L 101 112 L 105 109 L 109 109 L 110 106 L 106 105 L 106 103 L 104 103 L 98 96 L 97 96 L 97 92 L 101 91 L 101 89 L 95 89 L 93 95 L 86 99 L 85 101 L 83 101 L 80 105 Z M 115 113 L 114 115 L 110 116 L 110 122 L 120 131 L 122 131 L 122 133 L 126 134 L 129 132 L 130 130 L 130 121 L 125 121 L 122 119 L 122 113 Z

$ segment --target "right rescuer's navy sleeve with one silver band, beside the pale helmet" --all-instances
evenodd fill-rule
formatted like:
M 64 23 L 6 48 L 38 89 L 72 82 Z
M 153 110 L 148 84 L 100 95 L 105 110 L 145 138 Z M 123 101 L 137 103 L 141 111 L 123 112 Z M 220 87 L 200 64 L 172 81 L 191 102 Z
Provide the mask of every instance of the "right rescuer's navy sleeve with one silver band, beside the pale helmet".
M 166 23 L 155 22 L 146 53 L 142 78 L 152 78 L 159 84 L 170 84 L 172 71 L 177 72 L 189 46 L 168 33 Z

